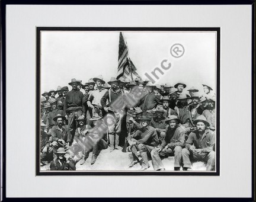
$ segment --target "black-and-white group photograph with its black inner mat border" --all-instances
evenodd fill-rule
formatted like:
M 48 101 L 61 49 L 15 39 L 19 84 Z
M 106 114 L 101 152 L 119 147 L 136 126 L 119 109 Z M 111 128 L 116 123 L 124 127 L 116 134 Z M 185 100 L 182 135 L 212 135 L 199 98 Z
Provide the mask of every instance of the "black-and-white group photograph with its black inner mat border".
M 216 175 L 218 29 L 37 29 L 39 175 Z

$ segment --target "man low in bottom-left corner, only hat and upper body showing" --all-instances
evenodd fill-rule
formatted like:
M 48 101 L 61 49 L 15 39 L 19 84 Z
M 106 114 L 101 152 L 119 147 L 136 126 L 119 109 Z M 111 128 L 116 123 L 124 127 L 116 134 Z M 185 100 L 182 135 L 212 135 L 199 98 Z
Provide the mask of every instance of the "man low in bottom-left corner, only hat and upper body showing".
M 50 162 L 51 171 L 75 171 L 75 162 L 64 148 L 57 149 L 57 157 Z

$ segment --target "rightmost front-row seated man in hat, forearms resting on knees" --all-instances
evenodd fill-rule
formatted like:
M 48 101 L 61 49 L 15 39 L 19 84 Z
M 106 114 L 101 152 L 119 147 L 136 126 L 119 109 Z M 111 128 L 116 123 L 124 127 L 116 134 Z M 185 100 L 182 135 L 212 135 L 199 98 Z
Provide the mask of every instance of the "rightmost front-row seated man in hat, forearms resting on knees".
M 201 160 L 207 163 L 206 170 L 215 170 L 215 133 L 207 130 L 209 122 L 201 115 L 193 121 L 196 125 L 196 131 L 191 132 L 185 142 L 185 148 L 182 150 L 183 170 L 191 168 L 191 160 Z

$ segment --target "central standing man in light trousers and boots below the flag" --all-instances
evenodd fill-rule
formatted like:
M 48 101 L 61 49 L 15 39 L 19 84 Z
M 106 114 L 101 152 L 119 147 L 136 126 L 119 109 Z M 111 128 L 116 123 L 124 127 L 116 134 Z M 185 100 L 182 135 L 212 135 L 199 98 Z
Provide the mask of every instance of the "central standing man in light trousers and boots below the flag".
M 122 148 L 119 146 L 119 136 L 121 133 L 121 123 L 124 117 L 124 93 L 119 88 L 119 80 L 111 77 L 108 84 L 111 85 L 103 97 L 101 98 L 101 106 L 107 114 L 108 135 L 110 140 L 110 152 Z M 108 105 L 107 105 L 108 100 Z

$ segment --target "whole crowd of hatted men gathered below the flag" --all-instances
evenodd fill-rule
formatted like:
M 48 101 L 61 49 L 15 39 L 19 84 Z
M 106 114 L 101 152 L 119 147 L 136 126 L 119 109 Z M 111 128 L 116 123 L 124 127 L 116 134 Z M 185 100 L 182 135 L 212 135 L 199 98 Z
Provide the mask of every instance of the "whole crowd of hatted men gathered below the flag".
M 174 170 L 191 170 L 191 162 L 215 170 L 215 94 L 183 82 L 152 84 L 136 78 L 102 75 L 84 85 L 57 86 L 41 97 L 40 163 L 51 170 L 75 170 L 92 152 L 95 163 L 101 149 L 132 152 L 132 167 L 164 171 L 162 158 L 174 156 Z M 84 92 L 82 92 L 84 91 Z M 121 142 L 123 137 L 124 142 Z M 121 152 L 121 151 L 120 151 Z

